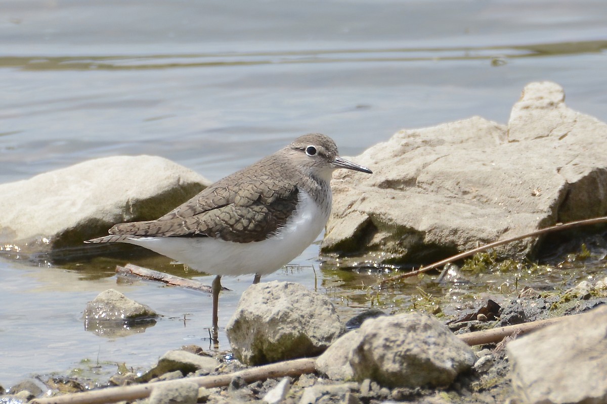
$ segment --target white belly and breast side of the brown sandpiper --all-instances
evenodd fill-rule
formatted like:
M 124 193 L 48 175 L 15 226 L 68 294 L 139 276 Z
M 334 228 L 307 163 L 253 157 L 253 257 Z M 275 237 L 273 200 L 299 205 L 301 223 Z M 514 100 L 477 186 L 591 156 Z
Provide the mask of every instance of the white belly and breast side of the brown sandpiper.
M 211 237 L 143 237 L 126 239 L 177 260 L 188 267 L 214 275 L 270 274 L 287 265 L 310 245 L 327 224 L 325 212 L 299 191 L 296 212 L 285 227 L 269 239 L 235 243 Z

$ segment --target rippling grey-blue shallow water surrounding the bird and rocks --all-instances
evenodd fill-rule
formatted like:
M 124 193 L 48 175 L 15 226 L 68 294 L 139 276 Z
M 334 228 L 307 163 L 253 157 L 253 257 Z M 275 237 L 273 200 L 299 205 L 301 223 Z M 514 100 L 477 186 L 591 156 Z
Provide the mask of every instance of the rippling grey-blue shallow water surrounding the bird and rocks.
M 558 82 L 569 106 L 607 121 L 600 1 L 5 0 L 2 8 L 0 182 L 115 154 L 168 157 L 215 180 L 311 131 L 353 155 L 401 128 L 472 115 L 505 123 L 537 80 Z M 378 301 L 370 285 L 380 275 L 320 270 L 317 254 L 313 245 L 294 261 L 300 270 L 265 280 L 316 287 L 344 317 L 378 303 L 409 307 L 418 288 L 449 291 L 416 279 Z M 132 262 L 170 268 L 161 258 Z M 209 296 L 123 282 L 116 263 L 0 259 L 0 384 L 83 359 L 149 366 L 180 345 L 208 347 Z M 220 299 L 220 324 L 251 280 L 223 281 L 232 291 Z M 85 331 L 86 302 L 110 287 L 164 317 L 126 337 Z

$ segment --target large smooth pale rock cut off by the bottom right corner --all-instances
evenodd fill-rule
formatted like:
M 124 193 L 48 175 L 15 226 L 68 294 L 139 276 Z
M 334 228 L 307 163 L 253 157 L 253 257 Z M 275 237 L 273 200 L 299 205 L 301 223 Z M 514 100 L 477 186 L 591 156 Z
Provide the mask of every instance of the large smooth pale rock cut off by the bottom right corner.
M 607 305 L 507 344 L 521 403 L 607 402 Z

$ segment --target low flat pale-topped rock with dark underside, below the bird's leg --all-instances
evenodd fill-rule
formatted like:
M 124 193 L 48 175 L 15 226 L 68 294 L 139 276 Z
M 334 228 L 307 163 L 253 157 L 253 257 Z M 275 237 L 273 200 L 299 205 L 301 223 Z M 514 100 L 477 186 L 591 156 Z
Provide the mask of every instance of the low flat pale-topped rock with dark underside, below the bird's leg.
M 211 373 L 219 366 L 219 362 L 213 358 L 192 354 L 187 351 L 168 351 L 158 359 L 158 363 L 147 373 L 141 375 L 138 382 L 148 382 L 154 377 L 165 373 L 180 371 L 182 376 L 188 373 L 203 371 Z

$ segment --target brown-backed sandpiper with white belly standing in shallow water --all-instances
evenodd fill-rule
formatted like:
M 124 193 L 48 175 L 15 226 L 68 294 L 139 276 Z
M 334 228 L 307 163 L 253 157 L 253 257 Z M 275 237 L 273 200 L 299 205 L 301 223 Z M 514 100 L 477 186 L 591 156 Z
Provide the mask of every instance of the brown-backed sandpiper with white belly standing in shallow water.
M 331 137 L 308 133 L 229 174 L 156 220 L 114 225 L 86 243 L 139 245 L 214 275 L 212 340 L 217 343 L 222 276 L 271 274 L 316 240 L 331 213 L 334 170 L 361 171 Z

